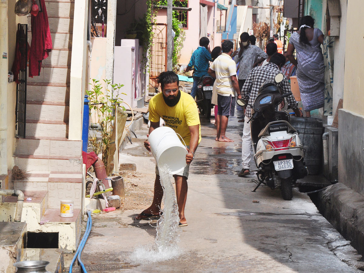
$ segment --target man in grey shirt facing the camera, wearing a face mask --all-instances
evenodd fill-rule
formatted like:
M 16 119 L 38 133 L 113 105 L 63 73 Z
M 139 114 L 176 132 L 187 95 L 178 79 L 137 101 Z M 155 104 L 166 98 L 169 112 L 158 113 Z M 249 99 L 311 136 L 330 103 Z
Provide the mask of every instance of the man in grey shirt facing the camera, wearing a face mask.
M 239 45 L 240 48 L 232 57 L 235 63 L 239 64 L 238 82 L 241 90 L 253 67 L 263 62 L 268 55 L 259 47 L 250 44 L 248 32 L 241 33 Z

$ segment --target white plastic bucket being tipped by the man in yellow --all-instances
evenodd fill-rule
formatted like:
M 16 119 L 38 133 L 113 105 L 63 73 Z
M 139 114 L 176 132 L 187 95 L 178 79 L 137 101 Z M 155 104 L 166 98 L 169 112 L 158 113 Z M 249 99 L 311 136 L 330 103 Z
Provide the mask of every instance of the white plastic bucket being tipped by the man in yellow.
M 172 128 L 158 127 L 150 133 L 148 142 L 158 166 L 168 165 L 172 174 L 185 169 L 188 152 Z

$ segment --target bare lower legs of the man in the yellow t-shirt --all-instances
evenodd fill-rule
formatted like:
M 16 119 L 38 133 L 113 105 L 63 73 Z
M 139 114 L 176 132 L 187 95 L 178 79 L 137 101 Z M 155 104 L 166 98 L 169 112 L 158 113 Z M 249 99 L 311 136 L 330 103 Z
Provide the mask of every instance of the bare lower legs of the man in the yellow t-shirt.
M 179 213 L 179 219 L 182 224 L 187 223 L 185 218 L 185 206 L 186 206 L 186 200 L 187 200 L 187 179 L 186 177 L 175 175 L 174 180 L 176 182 L 176 196 L 177 196 L 177 205 L 178 205 L 178 213 Z M 162 197 L 163 197 L 163 189 L 161 185 L 161 180 L 159 175 L 155 176 L 154 181 L 154 196 L 153 196 L 153 202 L 145 209 L 143 212 L 146 214 L 152 214 L 152 215 L 158 215 L 161 211 L 161 203 L 162 203 Z M 135 217 L 136 220 L 140 220 L 143 217 L 140 214 Z

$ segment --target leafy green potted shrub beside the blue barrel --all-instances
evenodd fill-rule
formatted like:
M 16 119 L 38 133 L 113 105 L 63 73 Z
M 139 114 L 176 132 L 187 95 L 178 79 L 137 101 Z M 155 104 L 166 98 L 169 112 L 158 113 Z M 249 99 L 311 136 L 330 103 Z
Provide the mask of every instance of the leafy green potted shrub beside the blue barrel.
M 86 91 L 90 100 L 90 123 L 98 124 L 98 130 L 89 131 L 88 142 L 94 152 L 99 155 L 102 153 L 102 161 L 107 167 L 108 150 L 111 142 L 112 129 L 114 128 L 115 106 L 123 102 L 120 92 L 124 84 L 111 84 L 111 80 L 103 80 L 105 90 L 99 80 L 92 79 L 92 89 Z M 125 110 L 125 108 L 123 107 Z

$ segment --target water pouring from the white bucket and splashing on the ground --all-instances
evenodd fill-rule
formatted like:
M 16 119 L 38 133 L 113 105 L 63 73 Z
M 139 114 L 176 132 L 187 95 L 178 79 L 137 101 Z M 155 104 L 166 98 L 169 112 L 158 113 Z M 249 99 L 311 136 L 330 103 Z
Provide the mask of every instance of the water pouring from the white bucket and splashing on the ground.
M 181 254 L 178 247 L 181 230 L 178 226 L 179 216 L 173 187 L 174 179 L 167 166 L 159 167 L 159 175 L 164 191 L 164 207 L 162 209 L 163 214 L 157 222 L 154 244 L 138 247 L 130 257 L 132 261 L 143 264 L 170 260 Z

